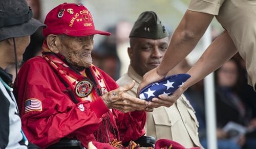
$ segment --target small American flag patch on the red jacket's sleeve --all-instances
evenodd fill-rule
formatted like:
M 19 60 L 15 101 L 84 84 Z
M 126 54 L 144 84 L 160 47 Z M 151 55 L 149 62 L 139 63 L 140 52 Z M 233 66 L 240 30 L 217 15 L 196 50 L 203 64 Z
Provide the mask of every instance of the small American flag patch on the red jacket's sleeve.
M 25 101 L 25 113 L 30 111 L 42 111 L 42 102 L 35 99 L 30 98 Z

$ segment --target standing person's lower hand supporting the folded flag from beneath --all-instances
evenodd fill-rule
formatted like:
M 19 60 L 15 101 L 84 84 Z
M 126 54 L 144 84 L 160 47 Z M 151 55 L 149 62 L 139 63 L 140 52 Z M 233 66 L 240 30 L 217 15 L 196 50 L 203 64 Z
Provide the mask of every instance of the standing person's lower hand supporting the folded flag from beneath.
M 152 108 L 158 108 L 161 106 L 170 107 L 172 106 L 178 98 L 181 96 L 181 94 L 185 90 L 182 87 L 179 87 L 172 95 L 165 96 L 165 95 L 159 95 L 159 98 L 153 98 L 152 102 L 148 103 L 148 107 L 146 111 L 152 110 Z M 148 111 L 151 112 L 151 111 Z

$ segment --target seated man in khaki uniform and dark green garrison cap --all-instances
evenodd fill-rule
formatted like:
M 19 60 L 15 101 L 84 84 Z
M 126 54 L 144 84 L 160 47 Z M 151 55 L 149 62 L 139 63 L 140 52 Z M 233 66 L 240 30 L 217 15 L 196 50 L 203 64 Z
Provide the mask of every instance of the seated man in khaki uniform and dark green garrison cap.
M 168 36 L 155 12 L 146 11 L 139 16 L 130 33 L 128 72 L 117 81 L 119 86 L 124 86 L 135 80 L 134 88 L 127 93 L 136 96 L 142 76 L 159 65 L 168 47 Z M 198 127 L 194 109 L 184 95 L 173 106 L 147 112 L 146 135 L 156 139 L 171 139 L 185 147 L 201 146 Z

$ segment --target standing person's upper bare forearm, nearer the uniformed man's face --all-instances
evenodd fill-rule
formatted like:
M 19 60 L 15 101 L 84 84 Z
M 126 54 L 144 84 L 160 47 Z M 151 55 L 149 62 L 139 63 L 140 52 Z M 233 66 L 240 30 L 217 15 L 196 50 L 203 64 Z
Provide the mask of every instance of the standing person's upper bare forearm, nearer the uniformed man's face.
M 186 11 L 157 69 L 160 74 L 167 74 L 195 48 L 213 17 L 206 13 Z

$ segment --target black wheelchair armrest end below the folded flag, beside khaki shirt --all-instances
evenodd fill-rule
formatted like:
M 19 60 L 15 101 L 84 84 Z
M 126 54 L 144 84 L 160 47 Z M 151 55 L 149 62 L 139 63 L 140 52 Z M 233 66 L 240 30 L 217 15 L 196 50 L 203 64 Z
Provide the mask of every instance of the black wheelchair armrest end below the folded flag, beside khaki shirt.
M 134 142 L 140 144 L 140 147 L 155 147 L 156 139 L 152 136 L 141 136 Z M 123 145 L 128 146 L 129 142 L 125 142 Z

